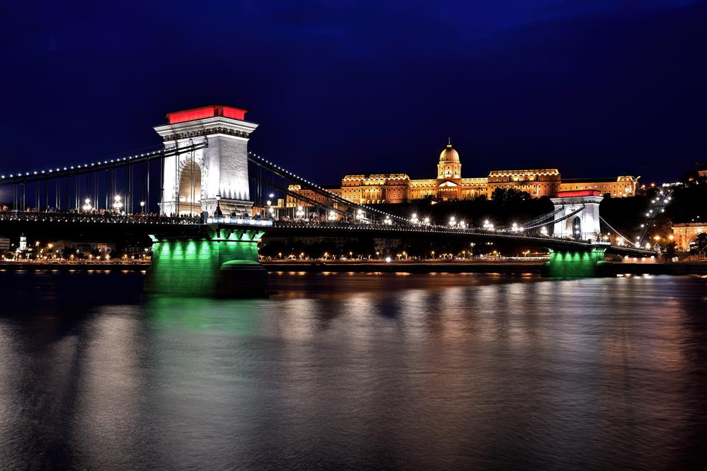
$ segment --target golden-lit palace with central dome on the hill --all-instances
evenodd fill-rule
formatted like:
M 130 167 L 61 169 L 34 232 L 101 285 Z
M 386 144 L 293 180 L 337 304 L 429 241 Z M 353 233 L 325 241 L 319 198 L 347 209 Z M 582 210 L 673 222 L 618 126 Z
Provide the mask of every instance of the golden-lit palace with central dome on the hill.
M 442 201 L 469 200 L 477 196 L 491 198 L 497 188 L 527 191 L 534 198 L 554 196 L 558 191 L 598 190 L 612 198 L 634 196 L 640 177 L 622 175 L 615 178 L 562 179 L 558 169 L 492 170 L 488 177 L 462 178 L 459 153 L 449 142 L 440 153 L 437 177 L 413 180 L 407 174 L 346 175 L 341 187 L 328 191 L 354 203 L 405 203 L 423 198 Z M 290 190 L 319 203 L 328 203 L 325 197 L 299 185 Z M 294 196 L 287 197 L 287 206 L 307 205 Z

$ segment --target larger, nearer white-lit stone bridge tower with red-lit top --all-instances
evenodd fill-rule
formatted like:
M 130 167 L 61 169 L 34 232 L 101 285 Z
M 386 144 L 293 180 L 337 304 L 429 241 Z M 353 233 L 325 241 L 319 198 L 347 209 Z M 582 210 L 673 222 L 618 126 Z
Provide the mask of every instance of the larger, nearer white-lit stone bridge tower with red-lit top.
M 165 157 L 161 213 L 213 214 L 217 196 L 223 213 L 250 213 L 247 151 L 257 124 L 245 121 L 246 111 L 225 105 L 185 109 L 168 113 L 168 124 L 154 128 L 165 149 L 208 141 L 206 148 Z

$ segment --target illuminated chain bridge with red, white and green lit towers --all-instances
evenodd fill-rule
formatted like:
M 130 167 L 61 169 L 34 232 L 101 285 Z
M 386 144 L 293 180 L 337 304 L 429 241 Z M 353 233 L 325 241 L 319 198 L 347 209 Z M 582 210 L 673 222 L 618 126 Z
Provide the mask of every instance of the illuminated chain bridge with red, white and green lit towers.
M 420 220 L 346 200 L 248 150 L 258 125 L 245 114 L 223 105 L 168 113 L 168 123 L 154 128 L 159 147 L 2 173 L 0 186 L 12 200 L 0 210 L 0 232 L 149 235 L 146 290 L 194 295 L 265 292 L 257 242 L 266 233 L 542 247 L 551 251 L 549 273 L 560 276 L 592 275 L 610 254 L 655 256 L 647 227 L 631 242 L 602 219 L 597 191 L 559 193 L 553 211 L 508 228 Z M 659 203 L 667 201 L 670 191 L 660 195 Z

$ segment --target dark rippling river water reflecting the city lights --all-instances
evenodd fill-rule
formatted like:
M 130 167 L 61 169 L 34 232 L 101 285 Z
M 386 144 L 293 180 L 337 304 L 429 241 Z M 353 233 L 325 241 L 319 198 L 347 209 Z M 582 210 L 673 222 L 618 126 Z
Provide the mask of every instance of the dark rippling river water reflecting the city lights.
M 701 278 L 0 273 L 0 468 L 704 463 Z

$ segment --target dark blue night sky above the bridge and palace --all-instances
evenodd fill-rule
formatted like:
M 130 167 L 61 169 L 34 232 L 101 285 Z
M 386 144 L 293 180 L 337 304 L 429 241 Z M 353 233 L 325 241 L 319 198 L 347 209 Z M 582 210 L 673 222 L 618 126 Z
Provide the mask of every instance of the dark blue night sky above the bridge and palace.
M 704 2 L 129 3 L 0 7 L 4 172 L 156 144 L 165 112 L 211 103 L 323 184 L 433 177 L 448 136 L 464 177 L 707 160 Z

